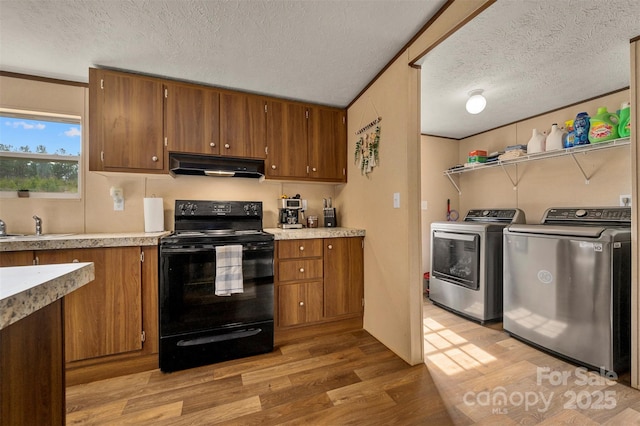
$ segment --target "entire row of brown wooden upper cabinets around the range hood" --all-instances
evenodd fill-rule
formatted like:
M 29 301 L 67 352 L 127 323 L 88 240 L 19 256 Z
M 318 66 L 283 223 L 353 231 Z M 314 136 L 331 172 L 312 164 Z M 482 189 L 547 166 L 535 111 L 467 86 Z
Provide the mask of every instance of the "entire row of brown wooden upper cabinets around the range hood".
M 266 159 L 268 178 L 346 182 L 339 108 L 89 69 L 89 170 L 167 173 L 169 152 Z

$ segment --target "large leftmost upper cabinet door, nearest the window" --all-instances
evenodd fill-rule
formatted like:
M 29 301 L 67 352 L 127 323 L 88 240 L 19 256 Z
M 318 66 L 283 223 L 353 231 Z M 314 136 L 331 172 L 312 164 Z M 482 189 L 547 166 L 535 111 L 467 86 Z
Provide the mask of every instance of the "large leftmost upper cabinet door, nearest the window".
M 113 71 L 98 73 L 100 90 L 96 117 L 101 120 L 103 168 L 162 171 L 162 83 L 160 80 Z M 95 136 L 95 134 L 94 134 Z M 92 140 L 90 143 L 100 143 Z

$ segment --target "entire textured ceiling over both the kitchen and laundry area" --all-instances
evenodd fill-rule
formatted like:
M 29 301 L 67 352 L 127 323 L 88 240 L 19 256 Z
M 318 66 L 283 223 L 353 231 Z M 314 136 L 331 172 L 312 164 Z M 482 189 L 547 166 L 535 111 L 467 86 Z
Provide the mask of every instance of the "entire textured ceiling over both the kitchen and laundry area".
M 102 66 L 344 107 L 444 3 L 0 0 L 0 69 L 86 82 Z M 421 130 L 462 138 L 626 87 L 639 35 L 640 0 L 498 0 L 423 58 Z

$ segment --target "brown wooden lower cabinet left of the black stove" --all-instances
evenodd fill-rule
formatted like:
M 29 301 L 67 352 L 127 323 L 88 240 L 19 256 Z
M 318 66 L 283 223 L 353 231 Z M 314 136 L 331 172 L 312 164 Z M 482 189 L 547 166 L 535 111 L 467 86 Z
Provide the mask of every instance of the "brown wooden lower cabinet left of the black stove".
M 158 247 L 0 253 L 0 266 L 93 262 L 95 280 L 65 297 L 67 385 L 158 368 Z

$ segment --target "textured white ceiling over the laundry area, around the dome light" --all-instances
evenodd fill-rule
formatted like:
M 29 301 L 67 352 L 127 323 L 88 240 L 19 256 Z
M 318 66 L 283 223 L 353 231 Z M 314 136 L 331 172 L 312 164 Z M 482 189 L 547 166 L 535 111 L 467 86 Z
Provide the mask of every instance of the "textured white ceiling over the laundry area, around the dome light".
M 422 133 L 459 139 L 627 87 L 637 36 L 638 0 L 499 0 L 421 61 Z

